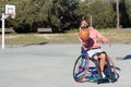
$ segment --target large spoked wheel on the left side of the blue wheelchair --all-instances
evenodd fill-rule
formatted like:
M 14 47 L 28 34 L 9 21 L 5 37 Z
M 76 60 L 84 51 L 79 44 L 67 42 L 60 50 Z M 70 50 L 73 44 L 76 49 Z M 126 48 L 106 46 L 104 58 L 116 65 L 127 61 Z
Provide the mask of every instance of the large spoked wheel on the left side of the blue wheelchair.
M 88 62 L 90 59 L 86 54 L 81 54 L 76 59 L 73 67 L 73 78 L 75 82 L 85 82 L 85 76 L 88 73 Z

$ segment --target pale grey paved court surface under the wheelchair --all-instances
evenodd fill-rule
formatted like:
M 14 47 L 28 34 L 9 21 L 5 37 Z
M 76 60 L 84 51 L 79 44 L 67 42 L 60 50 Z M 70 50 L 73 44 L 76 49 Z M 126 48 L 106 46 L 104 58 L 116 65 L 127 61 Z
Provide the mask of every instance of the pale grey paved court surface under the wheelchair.
M 131 45 L 102 45 L 120 77 L 116 83 L 76 83 L 72 72 L 81 45 L 31 45 L 0 49 L 0 87 L 130 87 Z

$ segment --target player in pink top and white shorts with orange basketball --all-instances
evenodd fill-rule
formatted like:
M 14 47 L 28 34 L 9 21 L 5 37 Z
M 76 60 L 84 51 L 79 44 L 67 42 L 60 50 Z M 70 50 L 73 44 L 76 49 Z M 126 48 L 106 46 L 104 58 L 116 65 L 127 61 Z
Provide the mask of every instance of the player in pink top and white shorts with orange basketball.
M 95 63 L 99 78 L 105 78 L 104 69 L 107 60 L 107 54 L 100 49 L 98 39 L 108 44 L 109 40 L 103 36 L 98 30 L 93 27 L 88 27 L 86 21 L 81 22 L 79 39 L 82 45 L 82 50 L 85 50 L 90 59 Z M 108 71 L 109 73 L 110 70 Z M 111 76 L 111 74 L 109 74 Z

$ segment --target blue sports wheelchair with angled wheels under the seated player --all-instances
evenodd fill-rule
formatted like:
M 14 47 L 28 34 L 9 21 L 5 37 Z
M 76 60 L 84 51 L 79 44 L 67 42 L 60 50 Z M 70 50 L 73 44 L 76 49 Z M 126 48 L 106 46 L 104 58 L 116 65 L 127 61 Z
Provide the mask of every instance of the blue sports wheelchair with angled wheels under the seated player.
M 100 53 L 97 53 L 99 55 Z M 92 83 L 115 83 L 119 78 L 117 73 L 119 67 L 115 66 L 111 58 L 106 54 L 106 63 L 104 67 L 104 74 L 106 77 L 102 78 L 99 61 L 90 58 L 87 51 L 82 49 L 81 55 L 76 59 L 73 67 L 73 78 L 75 82 L 92 82 Z

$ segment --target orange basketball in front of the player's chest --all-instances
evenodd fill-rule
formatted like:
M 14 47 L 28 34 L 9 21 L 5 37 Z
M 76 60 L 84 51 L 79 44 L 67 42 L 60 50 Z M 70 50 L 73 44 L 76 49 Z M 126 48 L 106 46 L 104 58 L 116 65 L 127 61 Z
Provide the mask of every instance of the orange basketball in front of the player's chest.
M 80 29 L 79 37 L 82 40 L 87 40 L 90 38 L 90 32 L 88 32 L 88 29 Z

